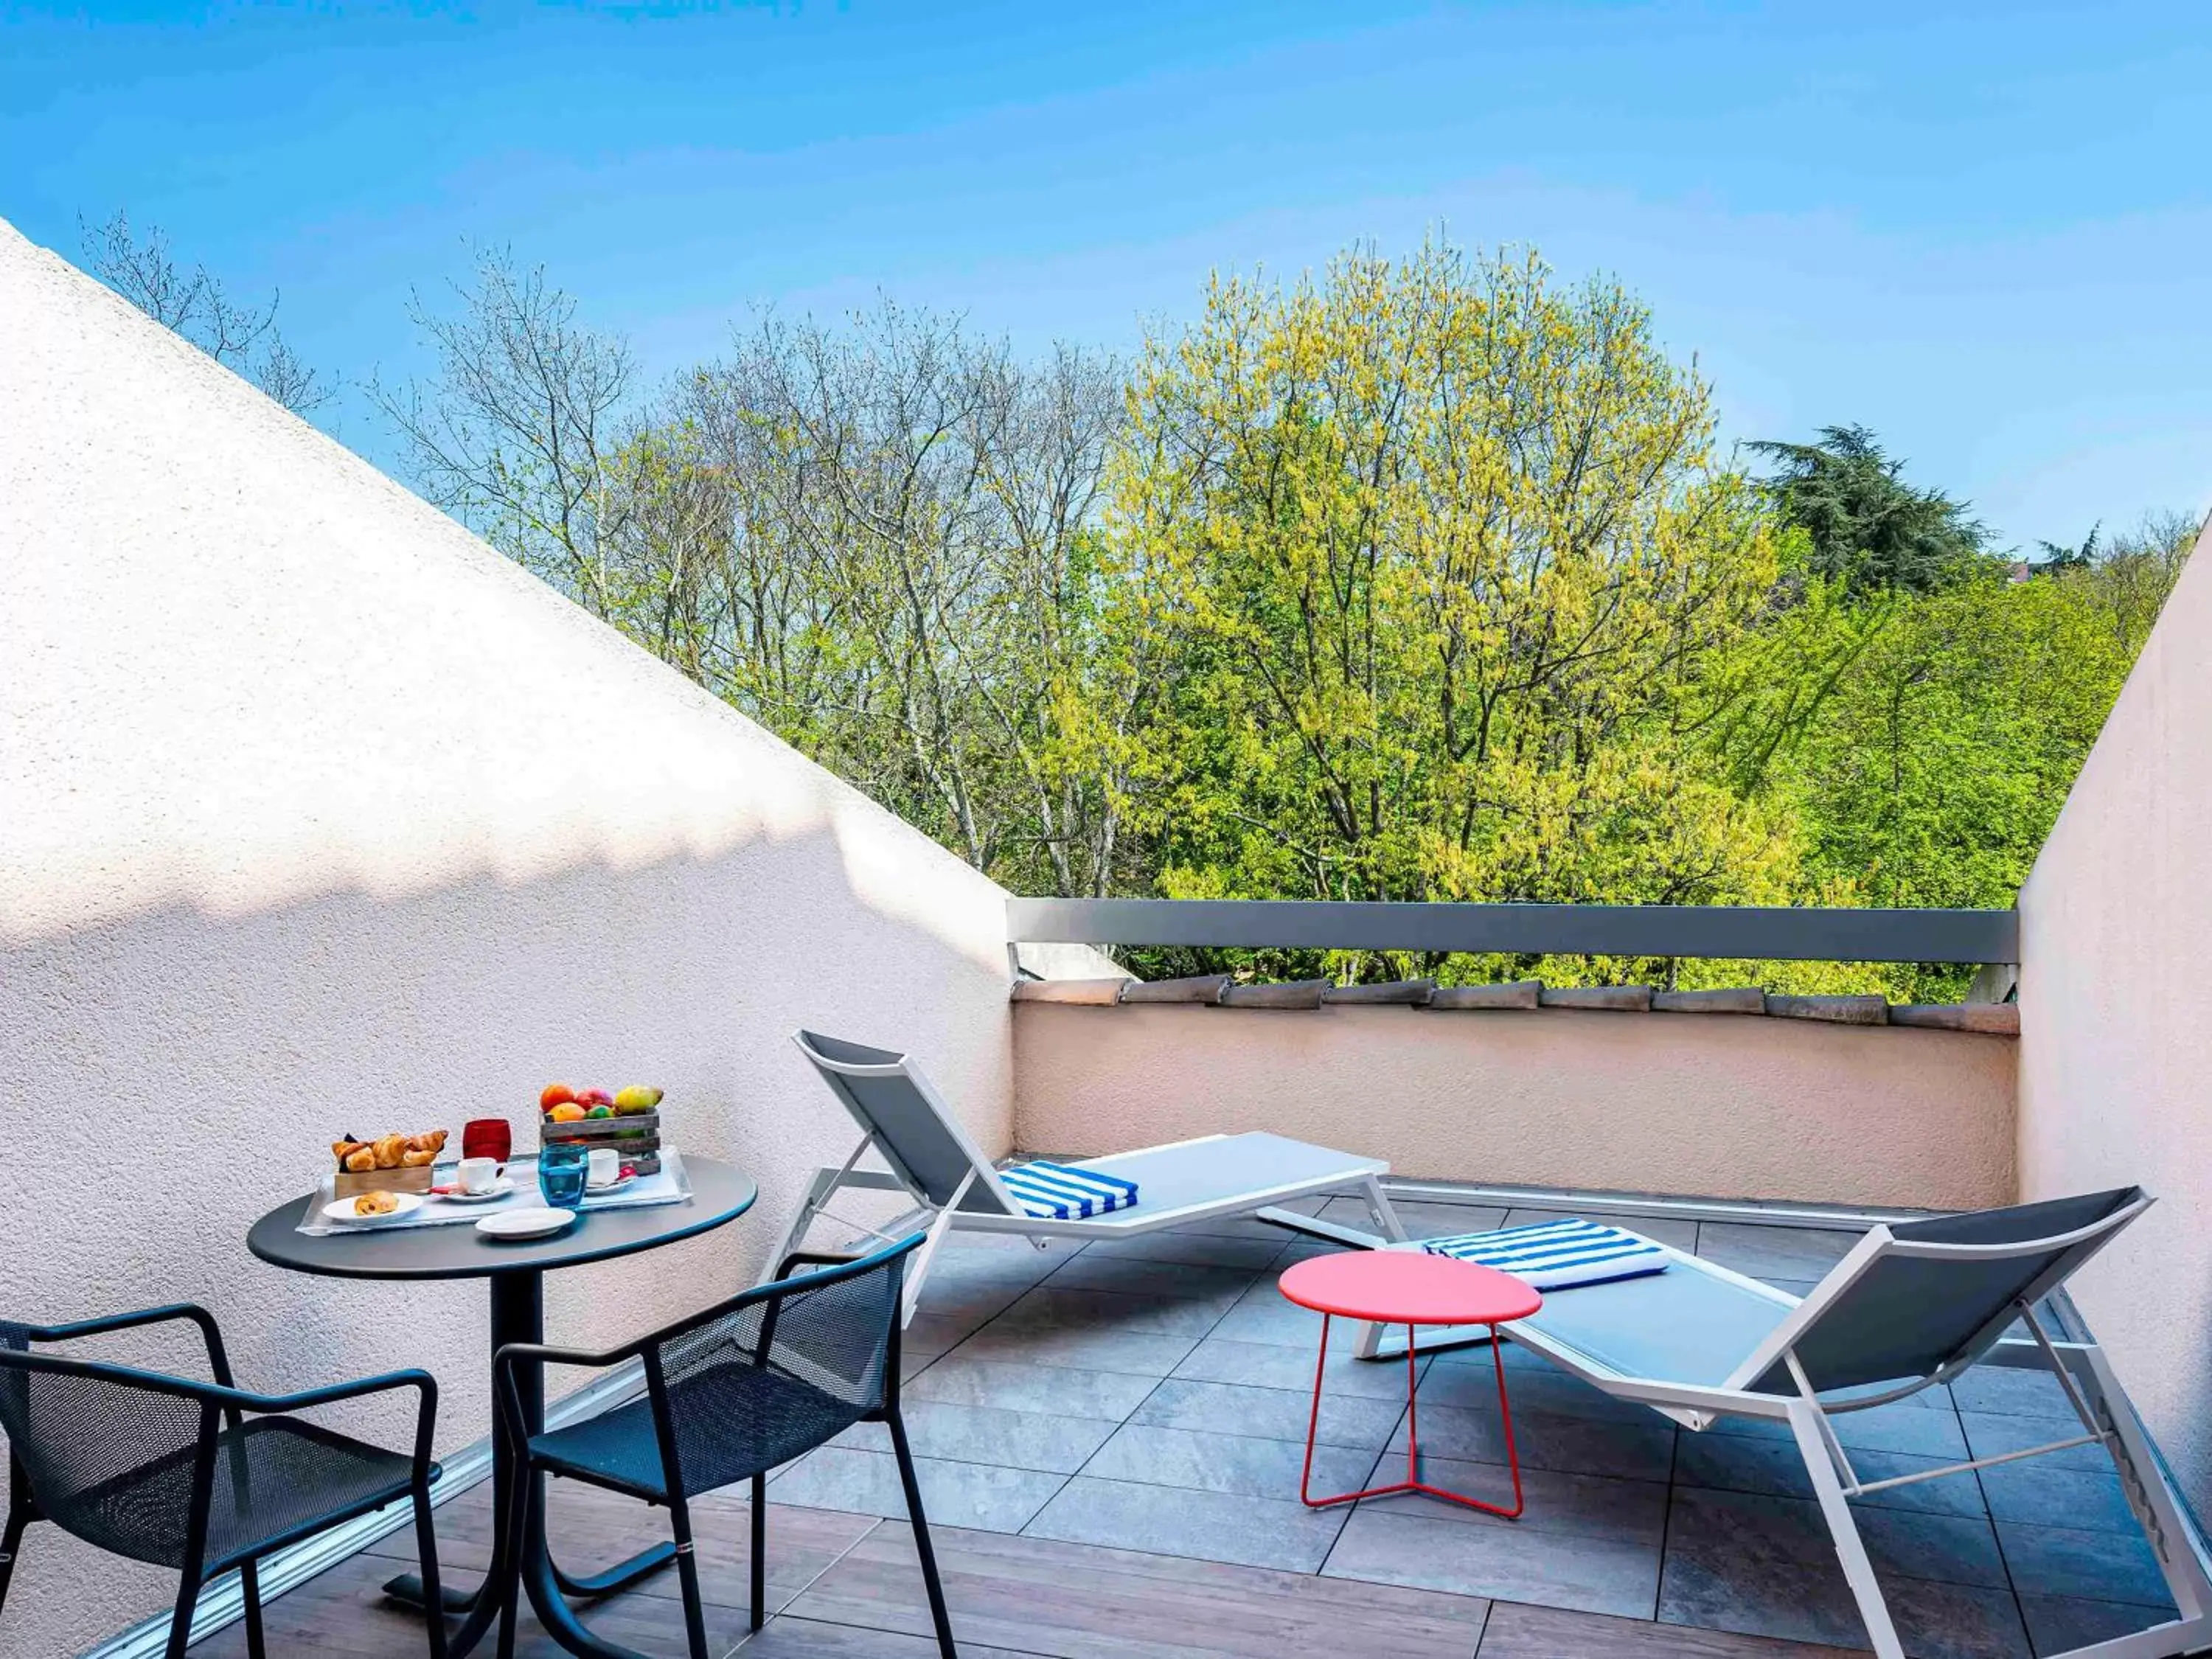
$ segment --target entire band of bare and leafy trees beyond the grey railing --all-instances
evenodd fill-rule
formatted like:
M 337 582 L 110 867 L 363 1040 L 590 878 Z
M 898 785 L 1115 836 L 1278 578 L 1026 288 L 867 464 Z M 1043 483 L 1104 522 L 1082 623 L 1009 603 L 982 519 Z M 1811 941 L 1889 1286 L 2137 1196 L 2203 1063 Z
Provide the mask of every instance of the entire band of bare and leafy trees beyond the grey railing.
M 1442 243 L 1219 279 L 1128 376 L 883 303 L 648 394 L 542 272 L 458 299 L 376 389 L 422 489 L 1020 891 L 2008 905 L 2197 535 L 2015 566 L 1860 427 L 1747 478 L 1619 285 Z

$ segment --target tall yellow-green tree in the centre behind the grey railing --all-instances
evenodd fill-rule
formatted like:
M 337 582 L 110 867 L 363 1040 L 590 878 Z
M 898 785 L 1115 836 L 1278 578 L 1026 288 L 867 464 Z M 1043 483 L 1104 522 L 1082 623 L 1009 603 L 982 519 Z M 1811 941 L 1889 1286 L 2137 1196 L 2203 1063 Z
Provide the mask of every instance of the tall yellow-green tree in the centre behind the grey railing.
M 1214 281 L 1128 403 L 1113 593 L 1181 641 L 1139 814 L 1164 891 L 1787 889 L 1781 821 L 1688 730 L 1770 520 L 1617 285 L 1440 243 Z

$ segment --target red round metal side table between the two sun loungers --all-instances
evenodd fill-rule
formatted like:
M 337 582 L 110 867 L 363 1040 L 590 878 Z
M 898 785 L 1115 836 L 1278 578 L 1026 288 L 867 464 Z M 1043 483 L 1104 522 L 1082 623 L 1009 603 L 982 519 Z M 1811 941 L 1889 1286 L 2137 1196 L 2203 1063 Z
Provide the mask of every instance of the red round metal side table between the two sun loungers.
M 1349 1250 L 1340 1256 L 1312 1256 L 1292 1265 L 1279 1290 L 1298 1307 L 1321 1314 L 1321 1358 L 1314 1360 L 1314 1413 L 1305 1420 L 1305 1473 L 1298 1475 L 1298 1498 L 1312 1509 L 1349 1504 L 1356 1498 L 1385 1498 L 1418 1491 L 1444 1498 L 1491 1515 L 1517 1520 L 1522 1513 L 1520 1453 L 1513 1449 L 1513 1407 L 1506 1402 L 1506 1363 L 1498 1352 L 1498 1327 L 1528 1318 L 1544 1298 L 1520 1279 L 1495 1267 L 1480 1267 L 1451 1256 L 1429 1256 L 1418 1250 Z M 1374 1325 L 1405 1325 L 1405 1480 L 1389 1486 L 1345 1491 L 1314 1498 L 1314 1431 L 1321 1427 L 1321 1376 L 1329 1363 L 1329 1321 L 1363 1318 Z M 1416 1325 L 1489 1325 L 1491 1365 L 1498 1367 L 1498 1411 L 1506 1425 L 1506 1467 L 1513 1469 L 1513 1509 L 1486 1504 L 1467 1493 L 1431 1486 L 1420 1478 L 1420 1422 L 1413 1394 L 1420 1378 L 1413 1358 Z

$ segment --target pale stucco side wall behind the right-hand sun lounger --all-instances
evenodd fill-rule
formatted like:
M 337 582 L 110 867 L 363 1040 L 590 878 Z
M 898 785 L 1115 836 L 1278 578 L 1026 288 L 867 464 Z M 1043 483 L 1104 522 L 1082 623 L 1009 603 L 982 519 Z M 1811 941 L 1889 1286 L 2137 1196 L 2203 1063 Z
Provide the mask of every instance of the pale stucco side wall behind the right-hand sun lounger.
M 2212 1515 L 2208 953 L 2212 533 L 2020 894 L 2020 1186 L 2159 1194 L 2077 1296 L 2199 1515 Z

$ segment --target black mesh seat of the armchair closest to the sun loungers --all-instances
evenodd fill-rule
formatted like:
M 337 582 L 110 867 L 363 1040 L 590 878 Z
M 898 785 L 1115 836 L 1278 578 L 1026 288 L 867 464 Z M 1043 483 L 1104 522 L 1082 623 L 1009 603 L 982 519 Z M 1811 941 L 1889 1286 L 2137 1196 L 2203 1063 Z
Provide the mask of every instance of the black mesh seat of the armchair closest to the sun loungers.
M 710 1365 L 670 1380 L 668 1398 L 686 1498 L 790 1462 L 863 1418 L 863 1407 L 750 1360 Z M 615 1486 L 648 1502 L 668 1500 L 648 1396 L 568 1429 L 533 1436 L 531 1455 L 577 1480 Z

